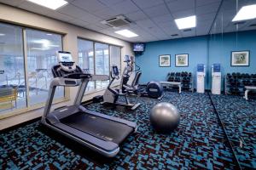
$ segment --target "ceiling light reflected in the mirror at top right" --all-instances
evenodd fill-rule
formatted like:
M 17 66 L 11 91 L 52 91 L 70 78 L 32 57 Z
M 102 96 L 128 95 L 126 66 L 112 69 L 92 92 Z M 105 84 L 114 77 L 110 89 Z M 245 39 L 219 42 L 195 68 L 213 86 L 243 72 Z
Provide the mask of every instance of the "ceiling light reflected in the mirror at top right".
M 236 16 L 232 21 L 234 22 L 238 20 L 251 20 L 255 18 L 256 18 L 256 4 L 243 6 L 238 11 L 238 13 L 236 14 Z

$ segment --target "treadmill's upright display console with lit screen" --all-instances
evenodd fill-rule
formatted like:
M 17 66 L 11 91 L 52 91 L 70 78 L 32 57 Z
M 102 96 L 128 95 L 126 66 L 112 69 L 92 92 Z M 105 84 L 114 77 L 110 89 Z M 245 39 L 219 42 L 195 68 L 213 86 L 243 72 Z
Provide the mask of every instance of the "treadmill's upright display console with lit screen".
M 73 62 L 72 56 L 69 52 L 58 51 L 57 52 L 58 61 L 61 65 L 61 69 L 67 72 L 72 72 L 76 70 L 76 65 Z

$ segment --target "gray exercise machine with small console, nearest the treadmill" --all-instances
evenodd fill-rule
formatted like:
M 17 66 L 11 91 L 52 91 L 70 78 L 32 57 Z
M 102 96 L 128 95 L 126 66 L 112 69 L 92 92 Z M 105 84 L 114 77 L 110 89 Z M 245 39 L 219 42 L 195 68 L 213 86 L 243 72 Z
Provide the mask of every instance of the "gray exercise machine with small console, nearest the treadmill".
M 112 71 L 110 72 L 110 75 L 112 80 L 109 82 L 108 88 L 105 90 L 102 104 L 122 105 L 122 106 L 131 108 L 131 110 L 137 109 L 137 107 L 141 104 L 130 103 L 127 92 L 122 93 L 121 90 L 111 88 L 113 81 L 119 79 L 119 68 L 117 67 L 117 65 L 112 65 L 111 69 Z M 125 97 L 125 102 L 119 101 L 119 97 L 121 96 Z

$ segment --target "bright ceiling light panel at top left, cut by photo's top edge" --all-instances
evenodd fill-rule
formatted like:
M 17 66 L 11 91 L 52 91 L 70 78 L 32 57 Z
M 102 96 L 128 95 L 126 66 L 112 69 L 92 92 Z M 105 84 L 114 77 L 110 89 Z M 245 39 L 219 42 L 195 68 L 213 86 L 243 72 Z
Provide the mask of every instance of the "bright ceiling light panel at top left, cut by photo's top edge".
M 46 8 L 57 9 L 67 4 L 64 0 L 26 0 L 32 3 L 37 3 L 38 5 L 44 6 Z

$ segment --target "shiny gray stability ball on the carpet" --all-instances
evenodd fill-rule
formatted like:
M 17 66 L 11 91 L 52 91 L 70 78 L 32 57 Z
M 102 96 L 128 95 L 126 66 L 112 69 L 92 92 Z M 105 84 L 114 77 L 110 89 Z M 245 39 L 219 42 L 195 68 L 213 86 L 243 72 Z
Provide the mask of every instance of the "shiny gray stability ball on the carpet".
M 154 105 L 150 111 L 150 122 L 156 131 L 170 132 L 179 124 L 180 114 L 175 105 L 162 102 Z

